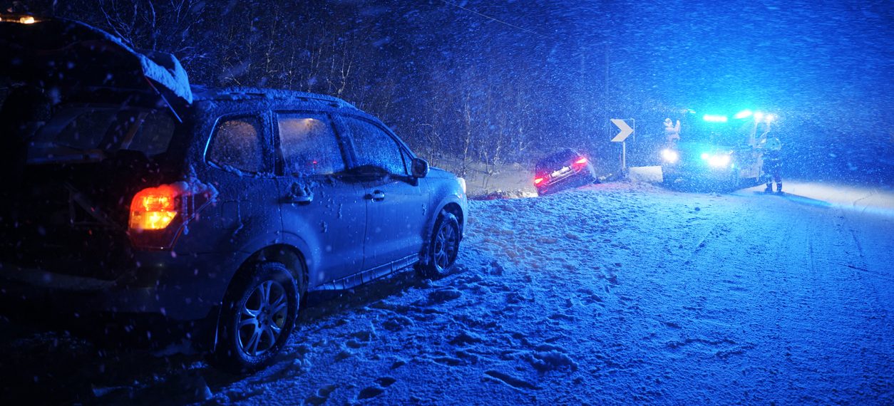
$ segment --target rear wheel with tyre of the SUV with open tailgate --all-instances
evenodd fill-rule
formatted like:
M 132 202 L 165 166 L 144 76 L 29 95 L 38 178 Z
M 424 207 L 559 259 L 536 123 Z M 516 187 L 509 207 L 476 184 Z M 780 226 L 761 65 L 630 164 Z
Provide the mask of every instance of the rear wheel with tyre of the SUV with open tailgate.
M 223 301 L 212 362 L 234 373 L 265 367 L 288 341 L 299 300 L 295 278 L 282 263 L 252 265 Z

